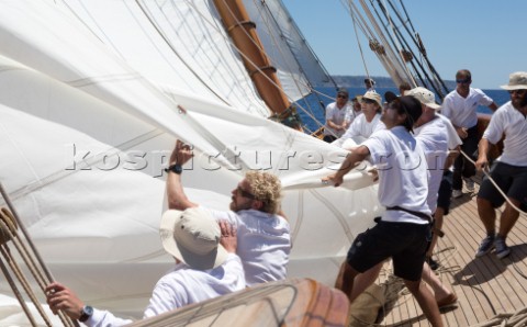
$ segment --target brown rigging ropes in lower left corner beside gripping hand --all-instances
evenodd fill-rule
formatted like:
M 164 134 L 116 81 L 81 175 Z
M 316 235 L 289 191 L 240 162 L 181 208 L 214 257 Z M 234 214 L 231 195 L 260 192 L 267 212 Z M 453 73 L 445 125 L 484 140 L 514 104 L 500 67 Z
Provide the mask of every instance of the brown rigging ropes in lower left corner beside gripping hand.
M 22 271 L 15 258 L 13 257 L 8 246 L 8 243 L 11 241 L 14 245 L 14 247 L 18 250 L 18 255 L 24 260 L 24 263 L 29 268 L 33 277 L 33 280 L 36 281 L 36 283 L 38 284 L 38 286 L 43 292 L 46 285 L 53 281 L 52 274 L 49 270 L 46 268 L 46 266 L 44 264 L 35 246 L 33 245 L 31 238 L 29 237 L 29 234 L 25 227 L 22 225 L 21 219 L 19 218 L 16 212 L 14 211 L 14 207 L 12 206 L 12 203 L 9 200 L 8 194 L 5 193 L 1 183 L 0 183 L 0 192 L 3 196 L 3 200 L 5 201 L 5 203 L 11 210 L 10 211 L 5 207 L 2 207 L 0 210 L 0 232 L 1 232 L 0 233 L 0 253 L 4 258 L 5 262 L 8 262 L 9 268 L 11 269 L 12 273 L 19 281 L 19 284 L 22 285 L 25 293 L 30 297 L 31 302 L 37 309 L 38 314 L 44 319 L 45 324 L 47 326 L 52 326 L 52 323 L 47 317 L 46 313 L 44 312 L 44 308 L 40 304 L 35 293 L 33 292 L 27 278 L 25 277 L 24 272 Z M 23 238 L 18 233 L 18 228 L 22 230 Z M 24 244 L 24 240 L 29 246 Z M 24 302 L 24 298 L 22 297 L 21 292 L 19 291 L 14 280 L 11 278 L 8 267 L 3 263 L 3 261 L 1 262 L 2 262 L 1 264 L 2 272 L 8 279 L 9 284 L 16 296 L 16 300 L 20 302 L 20 305 L 22 306 L 25 315 L 27 316 L 32 325 L 36 326 L 36 323 Z M 68 327 L 79 326 L 77 322 L 71 320 L 63 312 L 59 312 L 58 316 L 64 326 L 68 326 Z

